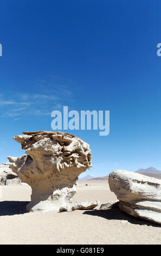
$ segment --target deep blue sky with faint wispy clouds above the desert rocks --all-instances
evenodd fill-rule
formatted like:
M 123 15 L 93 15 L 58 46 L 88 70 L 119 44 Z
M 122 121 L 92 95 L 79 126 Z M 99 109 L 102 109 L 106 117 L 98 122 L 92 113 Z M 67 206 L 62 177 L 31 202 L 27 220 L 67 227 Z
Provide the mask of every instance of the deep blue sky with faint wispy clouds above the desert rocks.
M 110 110 L 110 135 L 88 142 L 91 170 L 161 170 L 161 2 L 1 1 L 0 161 L 24 154 L 12 139 L 51 130 L 51 111 Z

